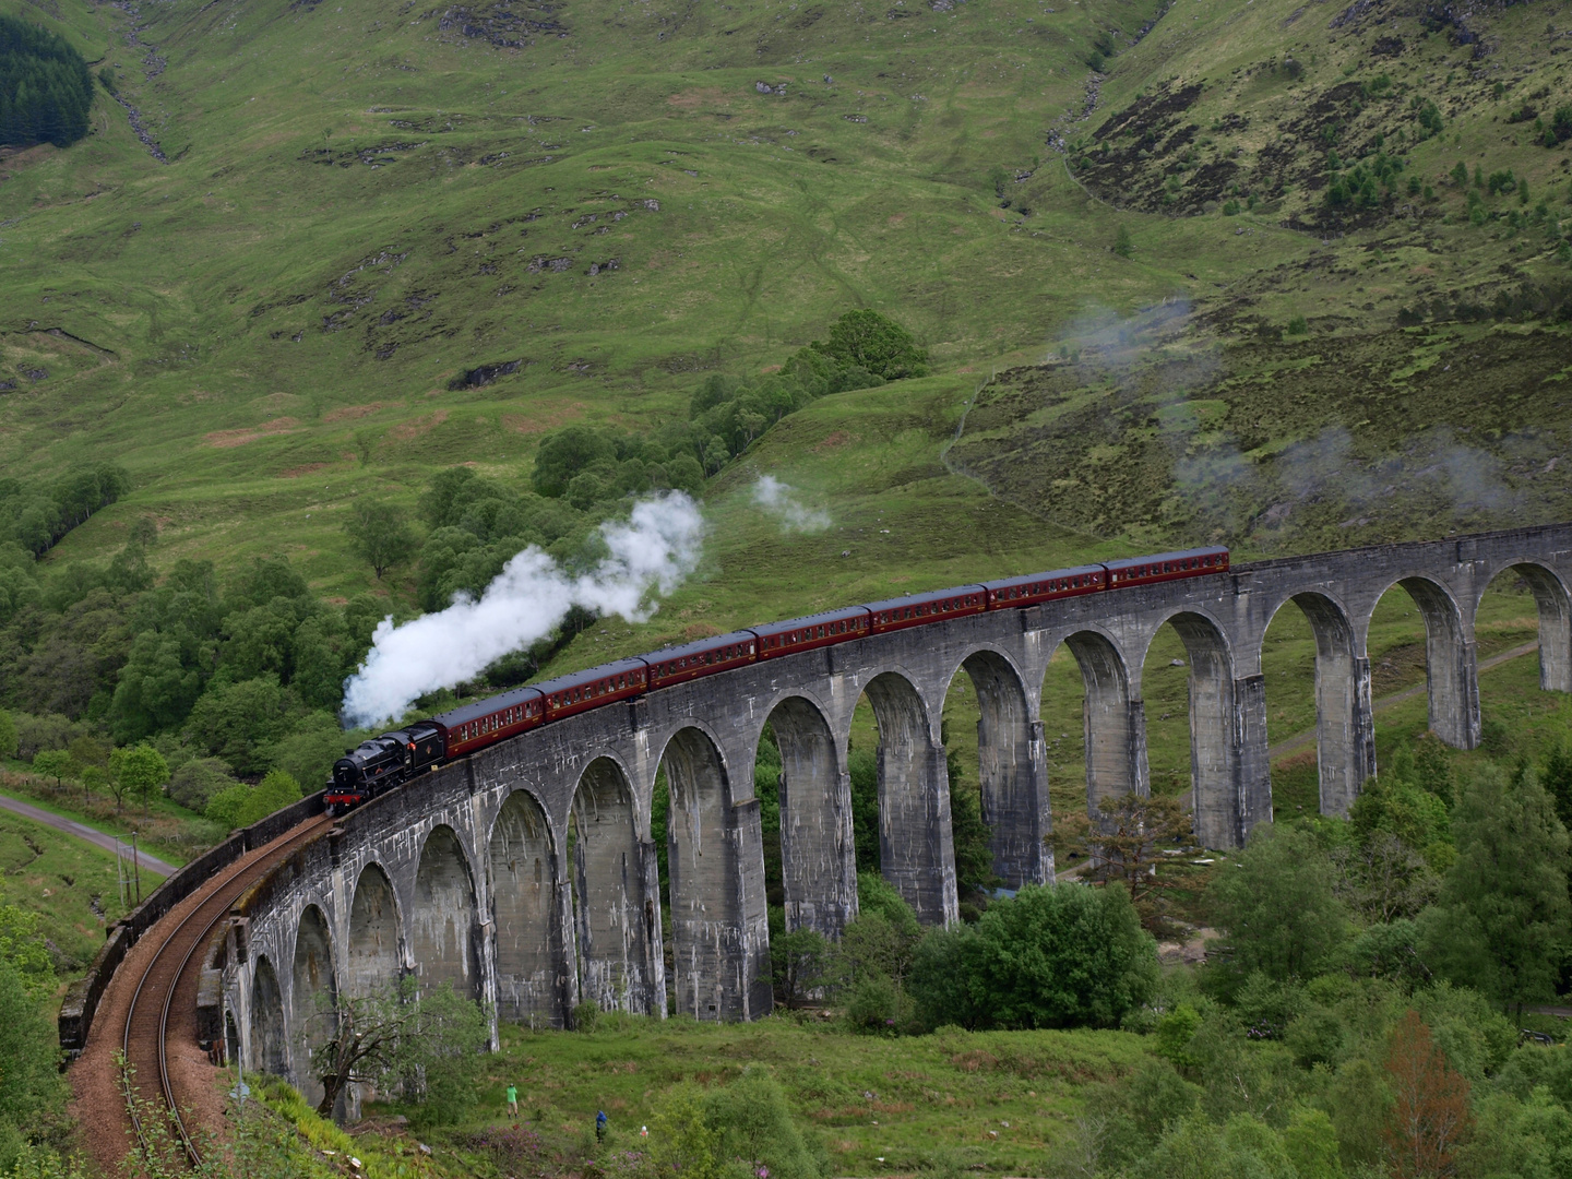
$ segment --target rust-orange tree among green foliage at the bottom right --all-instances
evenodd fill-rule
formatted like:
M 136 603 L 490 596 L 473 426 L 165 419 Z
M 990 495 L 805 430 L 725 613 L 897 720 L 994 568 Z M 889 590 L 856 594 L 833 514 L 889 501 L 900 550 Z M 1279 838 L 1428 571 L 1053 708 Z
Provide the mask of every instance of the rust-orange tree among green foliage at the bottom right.
M 1453 1174 L 1468 1132 L 1468 1082 L 1446 1063 L 1416 1011 L 1391 1034 L 1387 1082 L 1394 1097 L 1385 1130 L 1388 1173 L 1394 1179 Z

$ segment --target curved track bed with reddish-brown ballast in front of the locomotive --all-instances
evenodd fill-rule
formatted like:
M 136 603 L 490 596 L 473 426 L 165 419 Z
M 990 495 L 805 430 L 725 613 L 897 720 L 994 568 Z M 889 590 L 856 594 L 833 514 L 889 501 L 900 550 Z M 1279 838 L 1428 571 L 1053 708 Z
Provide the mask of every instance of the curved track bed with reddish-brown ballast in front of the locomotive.
M 330 816 L 319 814 L 285 832 L 272 843 L 245 855 L 239 863 L 203 882 L 143 934 L 105 992 L 101 1019 L 90 1034 L 82 1061 L 72 1067 L 79 1105 L 94 1108 L 97 1111 L 96 1121 L 104 1121 L 108 1110 L 118 1107 L 124 1111 L 126 1119 L 118 1129 L 124 1129 L 138 1141 L 146 1141 L 145 1127 L 135 1107 L 140 1105 L 143 1111 L 157 1108 L 170 1116 L 173 1137 L 179 1141 L 187 1162 L 201 1162 L 200 1148 L 182 1118 L 182 1108 L 189 1107 L 190 1100 L 200 1094 L 182 1093 L 179 1077 L 171 1075 L 170 1069 L 171 1038 L 190 1033 L 192 1044 L 195 1044 L 196 990 L 201 981 L 200 951 L 252 885 L 266 877 L 280 860 L 325 833 L 332 825 Z M 108 1019 L 102 1019 L 102 1016 L 108 1016 Z M 119 1078 L 115 1075 L 112 1061 L 115 1049 L 119 1049 L 126 1063 L 135 1067 L 130 1082 L 137 1097 L 135 1104 L 126 1099 Z M 110 1056 L 107 1078 L 113 1085 L 113 1097 L 110 1099 L 113 1105 L 105 1104 L 105 1056 Z M 108 1130 L 110 1127 L 101 1126 L 99 1129 Z M 113 1133 L 93 1133 L 90 1137 L 99 1162 L 107 1173 L 113 1173 L 124 1154 L 124 1138 Z M 119 1138 L 118 1152 L 116 1138 Z

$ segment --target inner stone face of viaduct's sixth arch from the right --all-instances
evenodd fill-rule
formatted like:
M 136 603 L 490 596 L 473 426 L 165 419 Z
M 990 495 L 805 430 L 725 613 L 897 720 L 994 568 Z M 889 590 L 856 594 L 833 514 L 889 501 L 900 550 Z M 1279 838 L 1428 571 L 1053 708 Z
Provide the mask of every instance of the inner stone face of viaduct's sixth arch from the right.
M 1050 817 L 1042 722 L 1033 715 L 1020 671 L 1006 656 L 981 648 L 960 668 L 976 689 L 978 786 L 994 874 L 1006 888 L 1047 883 L 1053 879 L 1053 854 L 1044 843 Z

